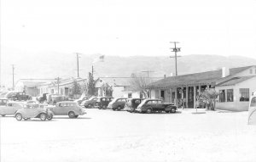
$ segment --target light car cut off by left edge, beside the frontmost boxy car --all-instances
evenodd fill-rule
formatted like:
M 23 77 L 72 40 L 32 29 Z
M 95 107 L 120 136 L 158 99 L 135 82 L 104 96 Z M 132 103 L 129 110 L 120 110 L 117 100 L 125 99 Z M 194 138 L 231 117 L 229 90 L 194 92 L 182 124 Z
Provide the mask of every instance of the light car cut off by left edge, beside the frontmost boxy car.
M 4 100 L 2 100 L 4 101 Z M 1 99 L 0 99 L 1 102 Z M 5 105 L 1 103 L 0 106 L 0 115 L 5 116 L 5 115 L 15 115 L 16 111 L 18 109 L 22 109 L 23 104 L 22 103 L 16 103 L 16 102 L 7 102 L 5 101 Z

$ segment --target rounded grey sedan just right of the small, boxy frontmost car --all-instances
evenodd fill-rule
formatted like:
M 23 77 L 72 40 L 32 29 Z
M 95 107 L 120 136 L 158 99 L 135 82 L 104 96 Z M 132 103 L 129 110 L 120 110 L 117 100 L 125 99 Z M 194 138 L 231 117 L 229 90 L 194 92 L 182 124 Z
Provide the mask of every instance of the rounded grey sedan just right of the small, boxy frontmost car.
M 86 114 L 79 103 L 73 101 L 62 101 L 56 103 L 54 107 L 47 107 L 54 115 L 68 115 L 69 118 L 77 118 L 79 115 Z

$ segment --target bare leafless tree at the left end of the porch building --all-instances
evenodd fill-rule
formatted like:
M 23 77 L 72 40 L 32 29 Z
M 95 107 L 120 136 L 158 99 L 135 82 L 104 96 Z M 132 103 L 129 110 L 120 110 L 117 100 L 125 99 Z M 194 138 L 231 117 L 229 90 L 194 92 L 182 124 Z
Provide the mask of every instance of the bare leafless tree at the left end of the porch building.
M 150 83 L 150 79 L 148 77 L 144 77 L 143 75 L 131 74 L 131 80 L 129 81 L 131 91 L 139 91 L 143 93 L 145 98 L 148 98 L 147 87 Z

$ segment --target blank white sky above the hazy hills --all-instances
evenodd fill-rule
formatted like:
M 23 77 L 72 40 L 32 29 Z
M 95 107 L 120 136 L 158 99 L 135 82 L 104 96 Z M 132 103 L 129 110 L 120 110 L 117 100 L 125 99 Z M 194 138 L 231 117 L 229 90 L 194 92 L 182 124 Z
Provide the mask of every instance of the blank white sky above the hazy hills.
M 176 41 L 181 55 L 256 59 L 255 8 L 256 0 L 1 0 L 1 46 L 167 56 Z

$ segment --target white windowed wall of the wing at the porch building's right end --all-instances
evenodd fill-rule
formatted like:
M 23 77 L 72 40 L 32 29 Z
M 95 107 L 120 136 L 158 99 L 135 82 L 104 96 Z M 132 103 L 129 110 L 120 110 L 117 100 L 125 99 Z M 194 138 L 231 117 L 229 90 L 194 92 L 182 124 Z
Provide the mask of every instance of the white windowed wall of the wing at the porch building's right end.
M 234 92 L 234 101 L 227 102 L 227 95 L 225 94 L 225 102 L 224 103 L 216 103 L 216 109 L 224 109 L 231 111 L 247 111 L 249 106 L 249 101 L 240 101 L 241 94 L 240 88 L 249 88 L 249 96 L 252 96 L 252 93 L 256 91 L 256 77 L 253 77 L 247 81 L 242 81 L 235 86 L 224 86 L 224 87 L 215 87 L 215 90 L 219 92 L 219 90 L 225 90 L 227 93 L 227 89 L 233 89 Z M 218 97 L 219 98 L 219 97 Z

